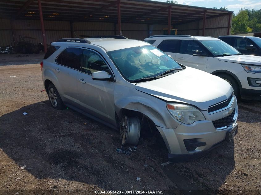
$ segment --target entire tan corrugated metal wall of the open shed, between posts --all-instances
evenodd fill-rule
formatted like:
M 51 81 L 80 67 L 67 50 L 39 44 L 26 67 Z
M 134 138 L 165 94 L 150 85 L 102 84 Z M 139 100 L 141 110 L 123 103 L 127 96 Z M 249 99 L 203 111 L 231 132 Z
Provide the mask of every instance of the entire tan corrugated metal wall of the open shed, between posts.
M 205 35 L 218 37 L 227 35 L 229 15 L 210 18 L 206 20 Z M 232 17 L 231 17 L 232 20 Z M 14 45 L 11 22 L 7 19 L 0 19 L 0 46 Z M 70 22 L 64 21 L 44 21 L 47 43 L 54 42 L 61 38 L 70 38 Z M 114 23 L 107 22 L 74 22 L 73 29 L 79 35 L 117 35 L 118 27 Z M 122 23 L 122 35 L 129 39 L 144 40 L 151 35 L 162 35 L 162 28 L 167 25 L 160 24 L 132 24 Z M 38 20 L 15 20 L 13 23 L 15 41 L 19 40 L 19 35 L 34 37 L 38 42 L 43 42 L 40 21 Z M 175 25 L 179 35 L 202 35 L 202 20 Z

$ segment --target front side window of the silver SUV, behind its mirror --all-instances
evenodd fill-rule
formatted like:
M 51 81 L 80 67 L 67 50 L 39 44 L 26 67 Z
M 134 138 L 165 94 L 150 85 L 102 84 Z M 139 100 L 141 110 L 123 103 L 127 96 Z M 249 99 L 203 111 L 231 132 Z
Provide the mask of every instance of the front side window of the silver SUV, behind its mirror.
M 82 72 L 87 74 L 92 74 L 97 71 L 105 71 L 108 74 L 111 74 L 109 67 L 104 63 L 101 57 L 89 50 L 83 50 L 82 54 Z

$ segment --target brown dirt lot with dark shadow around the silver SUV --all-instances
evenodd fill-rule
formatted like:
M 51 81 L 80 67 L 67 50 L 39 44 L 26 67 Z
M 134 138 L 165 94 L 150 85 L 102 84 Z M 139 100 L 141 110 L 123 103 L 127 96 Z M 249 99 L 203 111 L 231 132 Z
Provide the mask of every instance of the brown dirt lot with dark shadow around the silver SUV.
M 260 102 L 239 103 L 238 135 L 232 142 L 199 159 L 162 167 L 165 147 L 140 144 L 129 156 L 116 154 L 121 145 L 118 132 L 70 108 L 51 108 L 46 92 L 41 92 L 40 64 L 26 64 L 32 63 L 26 57 L 23 63 L 6 63 L 3 56 L 0 194 L 261 194 Z

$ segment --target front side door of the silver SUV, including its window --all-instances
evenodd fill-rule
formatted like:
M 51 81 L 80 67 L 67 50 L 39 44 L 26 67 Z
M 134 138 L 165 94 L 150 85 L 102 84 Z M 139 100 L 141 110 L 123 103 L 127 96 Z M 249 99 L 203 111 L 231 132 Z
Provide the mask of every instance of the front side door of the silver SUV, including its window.
M 115 82 L 93 80 L 91 75 L 97 71 L 106 71 L 113 76 L 107 62 L 99 53 L 84 49 L 81 71 L 77 76 L 80 106 L 82 110 L 112 124 L 115 121 Z

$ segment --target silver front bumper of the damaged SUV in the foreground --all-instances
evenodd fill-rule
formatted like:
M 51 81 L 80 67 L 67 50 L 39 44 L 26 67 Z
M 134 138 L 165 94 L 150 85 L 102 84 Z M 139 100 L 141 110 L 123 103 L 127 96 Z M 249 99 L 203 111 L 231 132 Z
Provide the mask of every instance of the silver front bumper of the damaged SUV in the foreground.
M 204 111 L 203 114 L 206 120 L 196 121 L 190 125 L 180 124 L 175 129 L 157 127 L 169 151 L 169 160 L 173 162 L 191 160 L 205 154 L 224 141 L 227 137 L 227 132 L 238 126 L 236 123 L 238 118 L 236 100 L 234 100 L 232 107 L 235 109 L 234 122 L 223 128 L 215 128 L 212 121 L 224 118 L 229 109 L 213 114 Z

